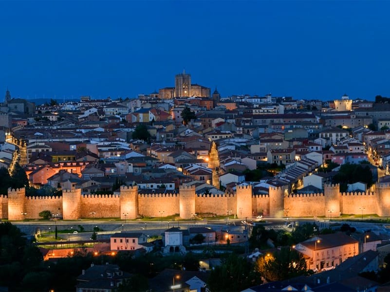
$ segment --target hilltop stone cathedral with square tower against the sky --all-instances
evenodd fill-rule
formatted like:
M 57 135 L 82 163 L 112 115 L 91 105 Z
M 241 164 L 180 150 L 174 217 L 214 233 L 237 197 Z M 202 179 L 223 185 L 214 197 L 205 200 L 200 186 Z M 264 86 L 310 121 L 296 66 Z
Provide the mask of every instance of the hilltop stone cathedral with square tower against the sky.
M 175 87 L 162 88 L 158 92 L 161 99 L 174 99 L 180 97 L 210 98 L 210 88 L 199 84 L 191 84 L 191 75 L 183 73 L 175 76 Z

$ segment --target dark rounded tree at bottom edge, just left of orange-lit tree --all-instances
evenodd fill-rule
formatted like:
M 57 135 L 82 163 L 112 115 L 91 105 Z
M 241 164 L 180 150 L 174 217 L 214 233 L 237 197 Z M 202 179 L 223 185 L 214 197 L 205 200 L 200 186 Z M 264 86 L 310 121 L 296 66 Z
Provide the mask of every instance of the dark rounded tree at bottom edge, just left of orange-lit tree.
M 242 291 L 261 284 L 261 279 L 246 258 L 231 254 L 211 271 L 207 284 L 210 291 Z

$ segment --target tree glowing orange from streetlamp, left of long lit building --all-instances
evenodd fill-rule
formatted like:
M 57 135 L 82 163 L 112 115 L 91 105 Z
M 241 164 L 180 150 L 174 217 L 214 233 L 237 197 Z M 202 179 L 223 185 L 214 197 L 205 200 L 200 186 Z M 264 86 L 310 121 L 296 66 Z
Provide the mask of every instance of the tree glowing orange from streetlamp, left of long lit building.
M 267 281 L 282 281 L 307 274 L 305 258 L 290 247 L 282 247 L 273 255 L 260 257 L 257 268 Z

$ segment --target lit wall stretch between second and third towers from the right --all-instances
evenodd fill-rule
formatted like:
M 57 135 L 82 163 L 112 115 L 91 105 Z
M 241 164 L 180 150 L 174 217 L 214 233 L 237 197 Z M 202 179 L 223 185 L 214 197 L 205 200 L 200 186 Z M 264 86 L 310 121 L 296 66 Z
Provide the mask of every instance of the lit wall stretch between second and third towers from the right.
M 325 195 L 320 194 L 289 194 L 284 197 L 284 216 L 314 217 L 325 216 Z

